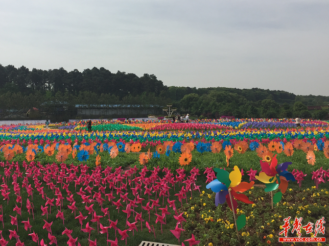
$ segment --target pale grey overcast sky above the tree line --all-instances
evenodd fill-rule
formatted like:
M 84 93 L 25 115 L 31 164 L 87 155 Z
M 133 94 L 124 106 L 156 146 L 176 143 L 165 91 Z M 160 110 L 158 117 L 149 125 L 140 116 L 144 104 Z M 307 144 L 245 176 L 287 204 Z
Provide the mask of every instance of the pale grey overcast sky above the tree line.
M 0 0 L 0 64 L 329 96 L 329 1 Z

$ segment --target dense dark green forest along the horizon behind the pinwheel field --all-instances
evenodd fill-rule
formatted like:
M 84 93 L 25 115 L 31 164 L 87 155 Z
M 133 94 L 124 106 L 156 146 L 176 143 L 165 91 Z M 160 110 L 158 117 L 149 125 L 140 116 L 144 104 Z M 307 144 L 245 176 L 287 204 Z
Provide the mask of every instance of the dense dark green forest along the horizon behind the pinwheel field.
M 218 82 L 220 85 L 220 81 Z M 165 86 L 154 74 L 111 73 L 104 68 L 83 72 L 64 68 L 38 70 L 22 66 L 0 65 L 0 110 L 27 111 L 33 107 L 51 109 L 76 104 L 141 104 L 164 107 L 167 103 L 177 112 L 219 118 L 328 118 L 328 108 L 307 110 L 307 106 L 329 105 L 329 97 L 301 96 L 285 91 L 258 88 L 190 88 Z

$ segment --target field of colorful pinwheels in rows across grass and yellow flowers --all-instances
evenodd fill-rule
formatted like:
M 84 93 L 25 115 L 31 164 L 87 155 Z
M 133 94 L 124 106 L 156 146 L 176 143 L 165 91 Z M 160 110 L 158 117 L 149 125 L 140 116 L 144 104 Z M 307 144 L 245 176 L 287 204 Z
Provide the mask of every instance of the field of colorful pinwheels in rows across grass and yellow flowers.
M 289 216 L 329 240 L 327 122 L 86 126 L 0 127 L 0 246 L 277 245 Z

